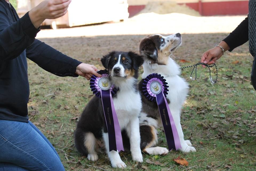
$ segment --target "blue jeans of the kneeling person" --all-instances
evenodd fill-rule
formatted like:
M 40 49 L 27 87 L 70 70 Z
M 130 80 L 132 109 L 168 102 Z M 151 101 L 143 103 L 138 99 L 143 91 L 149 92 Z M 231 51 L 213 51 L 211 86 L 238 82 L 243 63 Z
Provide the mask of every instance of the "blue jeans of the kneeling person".
M 63 171 L 61 160 L 34 124 L 0 120 L 0 171 Z

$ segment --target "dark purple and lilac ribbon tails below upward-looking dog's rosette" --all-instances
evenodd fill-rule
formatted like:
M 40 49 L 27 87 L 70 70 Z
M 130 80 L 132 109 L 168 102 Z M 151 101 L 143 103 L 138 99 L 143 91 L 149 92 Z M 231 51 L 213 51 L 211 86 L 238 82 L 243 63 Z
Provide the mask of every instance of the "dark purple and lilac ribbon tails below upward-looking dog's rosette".
M 169 105 L 166 101 L 166 98 L 163 92 L 157 94 L 156 99 L 157 99 L 157 105 L 158 105 L 159 113 L 161 116 L 161 120 L 163 123 L 163 128 L 165 130 L 165 137 L 168 144 L 168 148 L 169 150 L 171 149 L 178 150 L 179 148 L 181 148 L 178 131 L 175 126 Z

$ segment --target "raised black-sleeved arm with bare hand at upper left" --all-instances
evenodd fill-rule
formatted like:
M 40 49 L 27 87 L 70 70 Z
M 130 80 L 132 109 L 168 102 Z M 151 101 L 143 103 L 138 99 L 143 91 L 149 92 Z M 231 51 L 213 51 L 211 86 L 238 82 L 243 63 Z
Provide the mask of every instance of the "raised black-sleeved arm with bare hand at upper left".
M 35 40 L 41 23 L 67 12 L 71 0 L 45 0 L 23 17 L 11 22 L 9 4 L 0 1 L 0 62 L 17 58 Z M 12 9 L 14 10 L 14 9 Z

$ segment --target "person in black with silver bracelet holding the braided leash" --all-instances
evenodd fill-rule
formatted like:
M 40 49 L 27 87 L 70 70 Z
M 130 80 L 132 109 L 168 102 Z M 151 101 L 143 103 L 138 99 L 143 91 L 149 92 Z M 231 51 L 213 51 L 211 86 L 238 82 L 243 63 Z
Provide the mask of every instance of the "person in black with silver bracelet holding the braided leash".
M 232 31 L 214 48 L 207 50 L 201 57 L 201 62 L 211 65 L 219 59 L 225 51 L 232 51 L 249 40 L 250 53 L 253 56 L 253 67 L 251 71 L 251 83 L 256 90 L 256 1 L 249 1 L 249 14 L 237 28 Z M 205 66 L 203 65 L 205 68 Z

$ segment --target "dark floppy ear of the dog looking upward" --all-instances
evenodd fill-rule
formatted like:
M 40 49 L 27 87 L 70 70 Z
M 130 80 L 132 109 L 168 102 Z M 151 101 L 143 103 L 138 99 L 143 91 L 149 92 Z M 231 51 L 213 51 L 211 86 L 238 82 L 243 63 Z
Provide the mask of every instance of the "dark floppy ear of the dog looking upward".
M 158 52 L 153 40 L 144 38 L 139 44 L 139 51 L 141 55 L 157 60 Z

